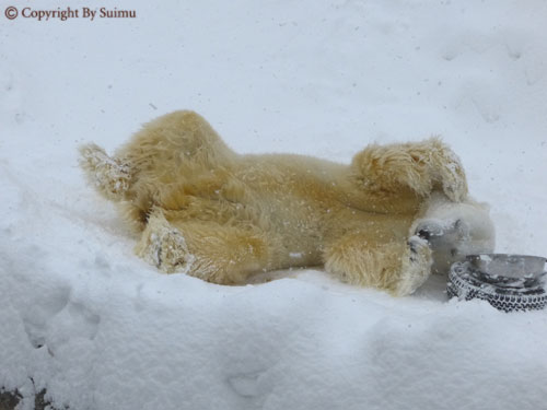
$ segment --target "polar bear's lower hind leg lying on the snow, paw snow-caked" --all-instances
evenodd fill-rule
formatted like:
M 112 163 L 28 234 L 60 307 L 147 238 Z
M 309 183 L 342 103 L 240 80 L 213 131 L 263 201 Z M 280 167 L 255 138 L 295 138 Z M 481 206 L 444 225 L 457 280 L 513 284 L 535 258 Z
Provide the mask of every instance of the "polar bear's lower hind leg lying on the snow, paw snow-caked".
M 219 284 L 244 283 L 276 268 L 279 247 L 259 230 L 209 221 L 167 221 L 154 210 L 136 253 L 165 273 L 187 273 Z

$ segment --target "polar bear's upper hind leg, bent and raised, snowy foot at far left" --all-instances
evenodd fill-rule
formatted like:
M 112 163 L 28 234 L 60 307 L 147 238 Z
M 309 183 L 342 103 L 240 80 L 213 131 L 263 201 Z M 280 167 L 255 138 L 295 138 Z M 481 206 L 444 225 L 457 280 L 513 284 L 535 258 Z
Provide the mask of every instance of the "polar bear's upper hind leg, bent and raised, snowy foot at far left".
M 80 153 L 91 185 L 123 202 L 124 215 L 137 231 L 173 186 L 207 173 L 221 178 L 236 155 L 201 116 L 187 110 L 144 125 L 113 156 L 96 144 L 82 147 Z

